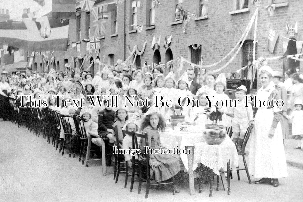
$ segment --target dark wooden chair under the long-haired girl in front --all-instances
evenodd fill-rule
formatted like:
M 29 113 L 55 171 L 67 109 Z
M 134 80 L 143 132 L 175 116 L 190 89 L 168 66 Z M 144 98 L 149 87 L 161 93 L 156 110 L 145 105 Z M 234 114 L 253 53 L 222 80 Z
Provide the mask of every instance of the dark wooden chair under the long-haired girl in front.
M 145 134 L 135 133 L 135 136 L 142 138 L 143 141 L 145 141 L 145 146 L 148 147 L 147 133 L 145 133 Z M 136 144 L 136 147 L 139 148 L 137 138 L 135 138 L 135 144 Z M 144 152 L 145 152 L 144 150 L 140 149 L 140 154 L 139 155 L 141 155 L 141 156 L 143 155 L 146 158 L 138 161 L 138 167 L 139 167 L 138 194 L 140 194 L 140 192 L 141 192 L 142 181 L 146 181 L 145 198 L 148 198 L 148 193 L 149 193 L 150 186 L 161 185 L 161 184 L 172 184 L 173 185 L 173 195 L 175 195 L 175 176 L 172 177 L 172 180 L 173 180 L 172 182 L 150 184 L 150 181 L 151 181 L 150 165 L 149 165 L 150 154 L 149 154 L 149 151 L 147 152 L 147 154 L 145 154 Z M 138 159 L 139 159 L 139 155 L 138 155 Z M 142 177 L 142 168 L 144 168 L 144 167 L 146 168 L 146 171 L 147 171 L 146 173 L 143 173 L 143 174 L 146 174 L 146 176 L 147 176 L 146 178 Z

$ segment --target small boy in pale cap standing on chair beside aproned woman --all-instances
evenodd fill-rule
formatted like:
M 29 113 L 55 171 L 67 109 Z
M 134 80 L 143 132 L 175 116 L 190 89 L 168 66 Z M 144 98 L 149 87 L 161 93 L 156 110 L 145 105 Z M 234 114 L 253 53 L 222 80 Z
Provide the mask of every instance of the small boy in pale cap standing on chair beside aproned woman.
M 234 118 L 232 119 L 232 141 L 237 147 L 237 151 L 242 151 L 242 144 L 244 141 L 245 132 L 250 124 L 254 123 L 254 115 L 252 106 L 248 103 L 248 107 L 245 106 L 246 87 L 244 85 L 236 88 L 235 97 L 239 101 L 236 103 L 235 108 L 232 108 Z

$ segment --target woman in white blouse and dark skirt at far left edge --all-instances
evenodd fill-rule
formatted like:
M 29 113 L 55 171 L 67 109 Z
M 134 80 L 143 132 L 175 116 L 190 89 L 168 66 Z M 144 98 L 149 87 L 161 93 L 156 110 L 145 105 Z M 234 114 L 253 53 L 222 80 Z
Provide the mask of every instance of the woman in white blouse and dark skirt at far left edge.
M 11 94 L 12 89 L 9 86 L 6 80 L 5 75 L 1 75 L 0 80 L 0 116 L 3 118 L 3 121 L 6 121 L 9 117 L 11 107 L 8 102 L 8 96 Z

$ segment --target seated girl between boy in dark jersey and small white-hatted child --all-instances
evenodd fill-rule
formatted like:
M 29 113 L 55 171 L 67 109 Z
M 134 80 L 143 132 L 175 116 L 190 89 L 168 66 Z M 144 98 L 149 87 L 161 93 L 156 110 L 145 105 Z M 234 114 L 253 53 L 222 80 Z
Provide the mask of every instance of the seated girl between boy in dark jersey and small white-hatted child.
M 118 135 L 119 144 L 121 144 L 121 147 L 122 147 L 122 141 L 123 141 L 122 127 L 125 125 L 125 121 L 128 120 L 127 110 L 124 108 L 119 108 L 115 113 L 115 119 L 116 119 L 116 121 L 113 124 L 113 128 L 115 128 L 115 126 L 117 126 L 118 134 L 115 134 L 115 130 L 114 130 L 113 138 L 114 138 L 114 141 L 116 141 L 116 135 Z M 116 143 L 116 144 L 118 144 L 118 143 Z

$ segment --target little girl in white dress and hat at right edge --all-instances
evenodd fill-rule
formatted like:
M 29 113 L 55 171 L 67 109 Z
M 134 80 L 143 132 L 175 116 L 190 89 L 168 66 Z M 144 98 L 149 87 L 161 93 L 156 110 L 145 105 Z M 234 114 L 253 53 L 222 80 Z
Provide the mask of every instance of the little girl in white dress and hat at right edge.
M 291 132 L 295 139 L 298 140 L 298 146 L 295 149 L 301 149 L 303 151 L 303 102 L 302 100 L 296 100 L 295 111 L 291 113 L 290 116 L 287 116 L 288 119 L 292 119 L 292 128 Z

